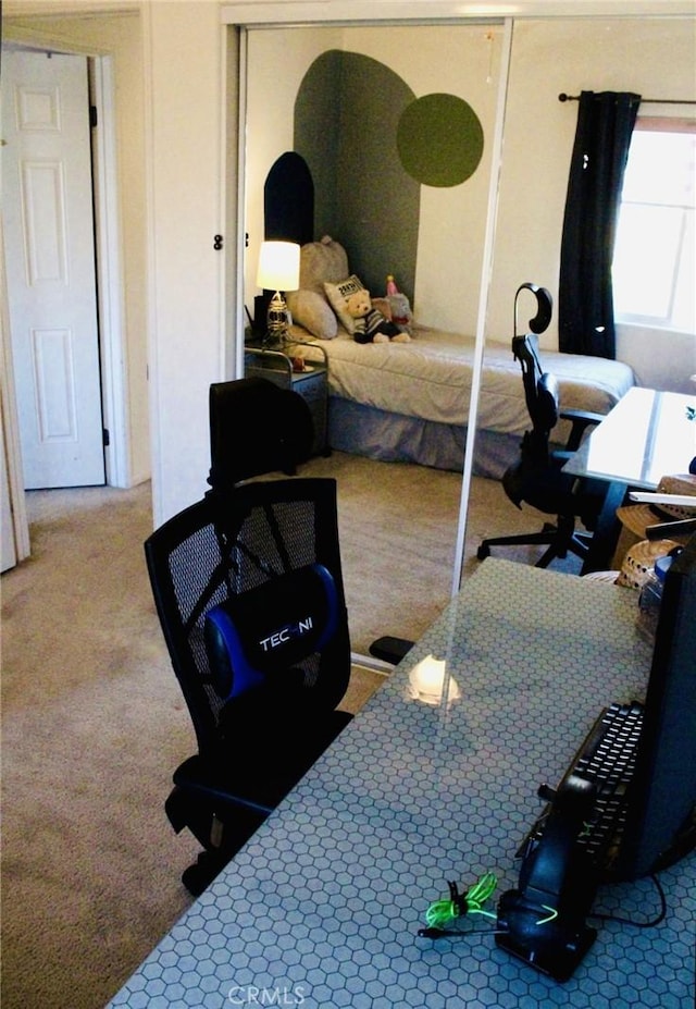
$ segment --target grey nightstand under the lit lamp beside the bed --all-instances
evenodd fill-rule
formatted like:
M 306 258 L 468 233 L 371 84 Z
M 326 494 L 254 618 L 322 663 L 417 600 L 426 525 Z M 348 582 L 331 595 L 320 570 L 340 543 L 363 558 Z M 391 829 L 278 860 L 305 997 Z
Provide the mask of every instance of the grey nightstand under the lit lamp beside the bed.
M 328 359 L 326 352 L 312 344 L 323 355 L 323 361 L 310 361 L 304 371 L 293 370 L 293 347 L 303 341 L 288 341 L 278 347 L 245 344 L 245 374 L 269 379 L 282 389 L 291 389 L 309 405 L 314 422 L 312 455 L 330 455 L 327 442 Z

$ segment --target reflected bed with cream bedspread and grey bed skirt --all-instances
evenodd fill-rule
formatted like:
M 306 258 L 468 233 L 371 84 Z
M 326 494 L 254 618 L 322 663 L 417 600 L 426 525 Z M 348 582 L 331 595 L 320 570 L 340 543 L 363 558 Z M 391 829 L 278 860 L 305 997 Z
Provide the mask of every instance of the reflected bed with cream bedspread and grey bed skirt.
M 343 330 L 319 340 L 293 325 L 294 339 L 309 342 L 298 356 L 328 360 L 328 443 L 332 448 L 388 462 L 461 470 L 474 359 L 474 340 L 423 327 L 408 344 L 355 342 Z M 295 353 L 295 352 L 294 352 Z M 323 355 L 322 355 L 323 356 Z M 544 368 L 560 385 L 564 408 L 607 414 L 634 384 L 620 361 L 543 352 Z M 566 423 L 559 423 L 558 443 Z M 520 365 L 510 346 L 488 343 L 484 355 L 474 472 L 499 479 L 517 459 L 530 426 Z

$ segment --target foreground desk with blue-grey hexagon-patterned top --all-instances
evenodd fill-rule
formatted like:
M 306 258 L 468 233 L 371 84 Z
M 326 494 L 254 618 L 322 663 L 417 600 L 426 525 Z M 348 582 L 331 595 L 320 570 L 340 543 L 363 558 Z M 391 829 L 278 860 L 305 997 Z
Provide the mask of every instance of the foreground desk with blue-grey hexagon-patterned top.
M 458 700 L 411 698 L 431 653 Z M 517 884 L 538 785 L 558 780 L 604 702 L 642 692 L 648 665 L 630 590 L 486 561 L 111 1006 L 691 1006 L 693 856 L 661 874 L 666 921 L 602 923 L 563 985 L 492 935 L 417 936 L 448 879 L 493 870 L 495 900 Z M 639 881 L 595 907 L 645 920 L 657 903 Z

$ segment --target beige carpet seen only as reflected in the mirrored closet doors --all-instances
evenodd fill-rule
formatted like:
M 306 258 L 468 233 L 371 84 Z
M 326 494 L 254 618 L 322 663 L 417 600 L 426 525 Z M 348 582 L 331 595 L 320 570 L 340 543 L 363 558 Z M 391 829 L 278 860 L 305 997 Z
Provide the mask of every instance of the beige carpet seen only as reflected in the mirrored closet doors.
M 451 596 L 461 473 L 345 453 L 313 459 L 304 475 L 338 481 L 338 522 L 353 651 L 366 654 L 381 635 L 419 638 Z M 496 480 L 473 478 L 463 575 L 478 566 L 487 536 L 533 532 L 543 518 L 515 508 Z M 506 547 L 501 556 L 533 564 L 540 547 Z M 556 566 L 579 570 L 569 557 Z

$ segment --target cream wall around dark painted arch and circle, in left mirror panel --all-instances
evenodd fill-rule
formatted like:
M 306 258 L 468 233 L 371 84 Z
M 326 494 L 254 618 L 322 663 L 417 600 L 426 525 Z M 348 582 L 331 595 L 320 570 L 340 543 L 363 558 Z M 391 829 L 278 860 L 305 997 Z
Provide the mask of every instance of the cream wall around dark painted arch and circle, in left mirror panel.
M 254 279 L 263 231 L 263 182 L 273 161 L 291 149 L 295 99 L 302 77 L 322 52 L 343 49 L 389 66 L 417 98 L 436 91 L 464 98 L 482 121 L 484 155 L 471 179 L 452 187 L 421 186 L 413 297 L 415 316 L 422 324 L 475 332 L 501 38 L 501 25 L 250 32 L 246 136 L 248 305 L 258 294 Z M 278 65 L 283 66 L 282 88 Z M 389 114 L 385 108 L 385 124 Z M 384 213 L 389 213 L 388 193 L 384 194 Z M 385 249 L 385 273 L 388 262 Z

